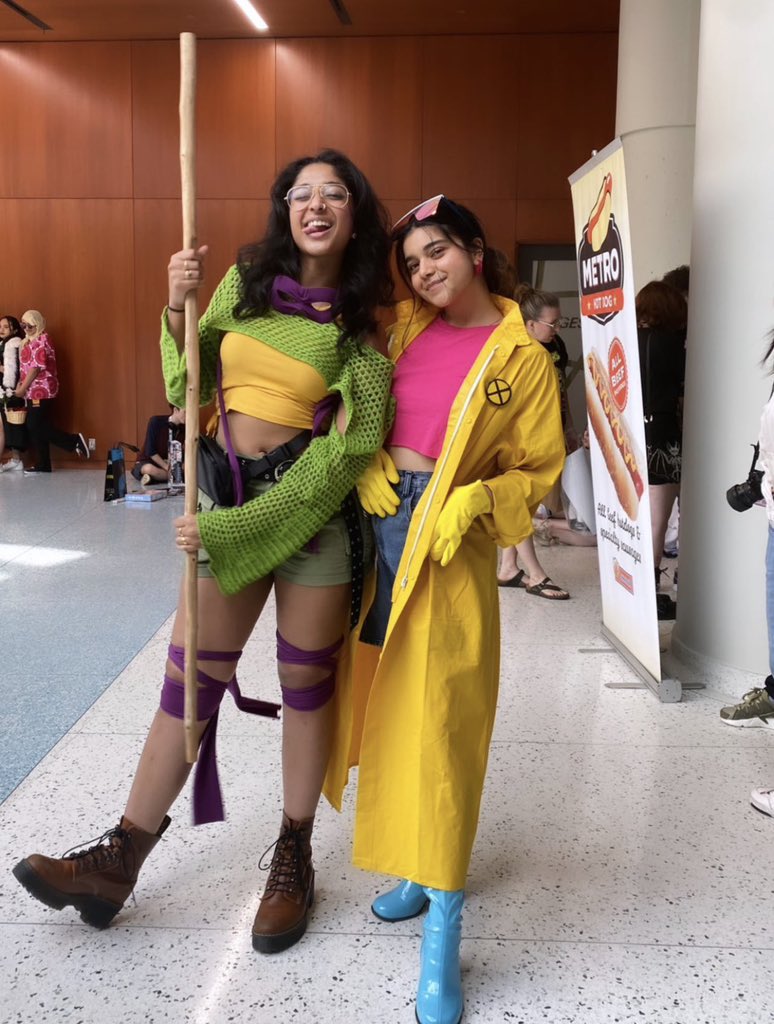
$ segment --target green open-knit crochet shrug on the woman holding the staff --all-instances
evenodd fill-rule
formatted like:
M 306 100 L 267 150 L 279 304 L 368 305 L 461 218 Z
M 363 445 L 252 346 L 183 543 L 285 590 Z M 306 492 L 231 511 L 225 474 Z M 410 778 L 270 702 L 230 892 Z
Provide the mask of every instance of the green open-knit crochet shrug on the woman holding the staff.
M 218 351 L 223 334 L 236 331 L 314 367 L 329 392 L 341 395 L 347 429 L 334 423 L 315 437 L 282 480 L 240 508 L 198 516 L 202 543 L 224 594 L 235 594 L 299 551 L 335 515 L 357 477 L 382 445 L 392 418 L 392 364 L 375 349 L 352 343 L 337 346 L 335 324 L 270 310 L 253 319 L 236 319 L 241 297 L 239 270 L 232 266 L 218 285 L 199 322 L 201 402 L 213 400 Z M 185 357 L 177 351 L 162 315 L 162 369 L 167 398 L 185 404 Z

